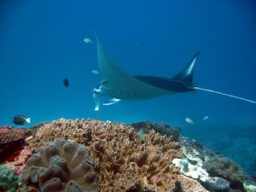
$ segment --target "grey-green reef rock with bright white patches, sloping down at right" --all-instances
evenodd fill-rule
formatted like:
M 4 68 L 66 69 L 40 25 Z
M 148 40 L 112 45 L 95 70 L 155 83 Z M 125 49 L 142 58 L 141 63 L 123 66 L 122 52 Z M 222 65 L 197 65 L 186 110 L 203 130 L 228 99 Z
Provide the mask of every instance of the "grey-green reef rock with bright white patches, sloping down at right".
M 207 176 L 206 179 L 201 180 L 201 177 L 197 179 L 206 189 L 244 192 L 250 191 L 253 189 L 252 186 L 255 186 L 253 179 L 236 162 L 202 146 L 195 140 L 180 137 L 179 144 L 182 146 L 183 160 L 174 160 L 174 163 L 180 161 L 177 166 L 180 166 L 181 172 L 189 177 L 193 177 L 193 175 L 188 175 L 188 173 L 200 173 L 200 175 L 203 172 L 207 173 L 204 174 Z M 203 170 L 203 172 L 197 172 L 199 170 Z M 250 189 L 247 189 L 247 186 Z

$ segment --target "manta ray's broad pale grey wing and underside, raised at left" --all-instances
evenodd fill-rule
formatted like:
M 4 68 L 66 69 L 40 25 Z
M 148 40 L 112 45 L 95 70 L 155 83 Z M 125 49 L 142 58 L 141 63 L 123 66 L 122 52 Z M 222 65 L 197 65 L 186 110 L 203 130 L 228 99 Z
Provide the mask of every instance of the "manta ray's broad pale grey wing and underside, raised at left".
M 96 37 L 98 65 L 104 84 L 99 86 L 102 96 L 121 100 L 143 100 L 156 96 L 172 94 L 170 90 L 160 89 L 134 78 L 119 67 L 118 63 L 108 54 L 99 38 Z

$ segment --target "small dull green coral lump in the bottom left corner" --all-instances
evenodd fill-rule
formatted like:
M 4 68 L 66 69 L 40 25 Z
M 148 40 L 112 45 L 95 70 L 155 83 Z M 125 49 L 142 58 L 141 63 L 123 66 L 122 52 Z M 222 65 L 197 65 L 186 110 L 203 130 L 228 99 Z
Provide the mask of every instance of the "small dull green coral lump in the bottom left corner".
M 0 172 L 0 191 L 15 192 L 20 183 L 20 177 L 6 166 L 0 166 Z

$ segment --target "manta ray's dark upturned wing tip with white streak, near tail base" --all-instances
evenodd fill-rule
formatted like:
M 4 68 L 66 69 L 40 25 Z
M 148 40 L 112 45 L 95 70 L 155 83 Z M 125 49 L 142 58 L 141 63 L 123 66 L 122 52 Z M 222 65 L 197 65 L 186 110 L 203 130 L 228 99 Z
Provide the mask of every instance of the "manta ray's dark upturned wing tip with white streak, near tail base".
M 195 68 L 195 62 L 200 52 L 197 52 L 189 63 L 183 67 L 183 69 L 175 75 L 172 80 L 183 81 L 186 84 L 193 84 L 193 73 Z

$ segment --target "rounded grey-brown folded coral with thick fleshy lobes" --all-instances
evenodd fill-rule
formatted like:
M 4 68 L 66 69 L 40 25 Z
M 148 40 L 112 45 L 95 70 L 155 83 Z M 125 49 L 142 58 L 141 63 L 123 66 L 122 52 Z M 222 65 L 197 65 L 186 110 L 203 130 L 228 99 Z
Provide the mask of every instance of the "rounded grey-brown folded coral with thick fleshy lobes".
M 83 145 L 66 140 L 49 143 L 27 160 L 21 178 L 47 191 L 99 191 L 93 160 Z

